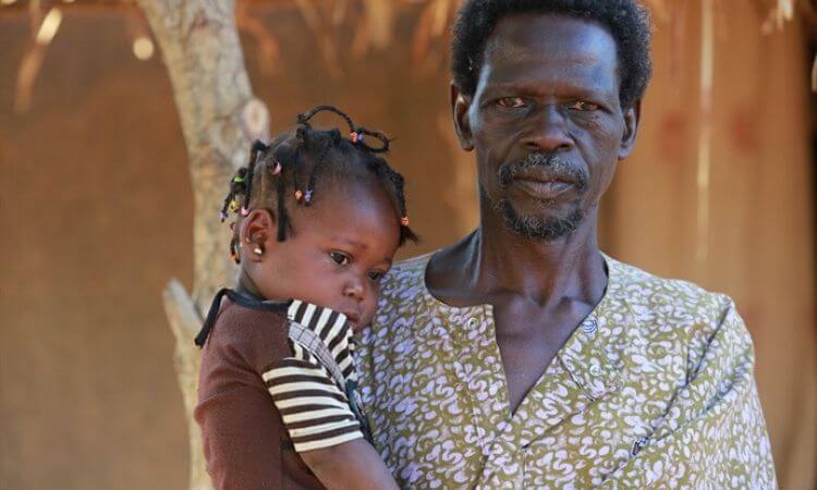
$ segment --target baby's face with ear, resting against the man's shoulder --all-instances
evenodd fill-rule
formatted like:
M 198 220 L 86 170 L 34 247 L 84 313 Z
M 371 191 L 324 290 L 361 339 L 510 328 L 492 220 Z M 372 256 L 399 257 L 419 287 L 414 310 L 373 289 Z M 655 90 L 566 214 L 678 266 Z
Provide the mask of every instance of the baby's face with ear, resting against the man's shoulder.
M 375 316 L 380 280 L 398 249 L 399 218 L 375 183 L 327 184 L 318 187 L 310 207 L 288 207 L 286 240 L 277 242 L 271 234 L 251 277 L 269 299 L 332 308 L 359 330 Z

